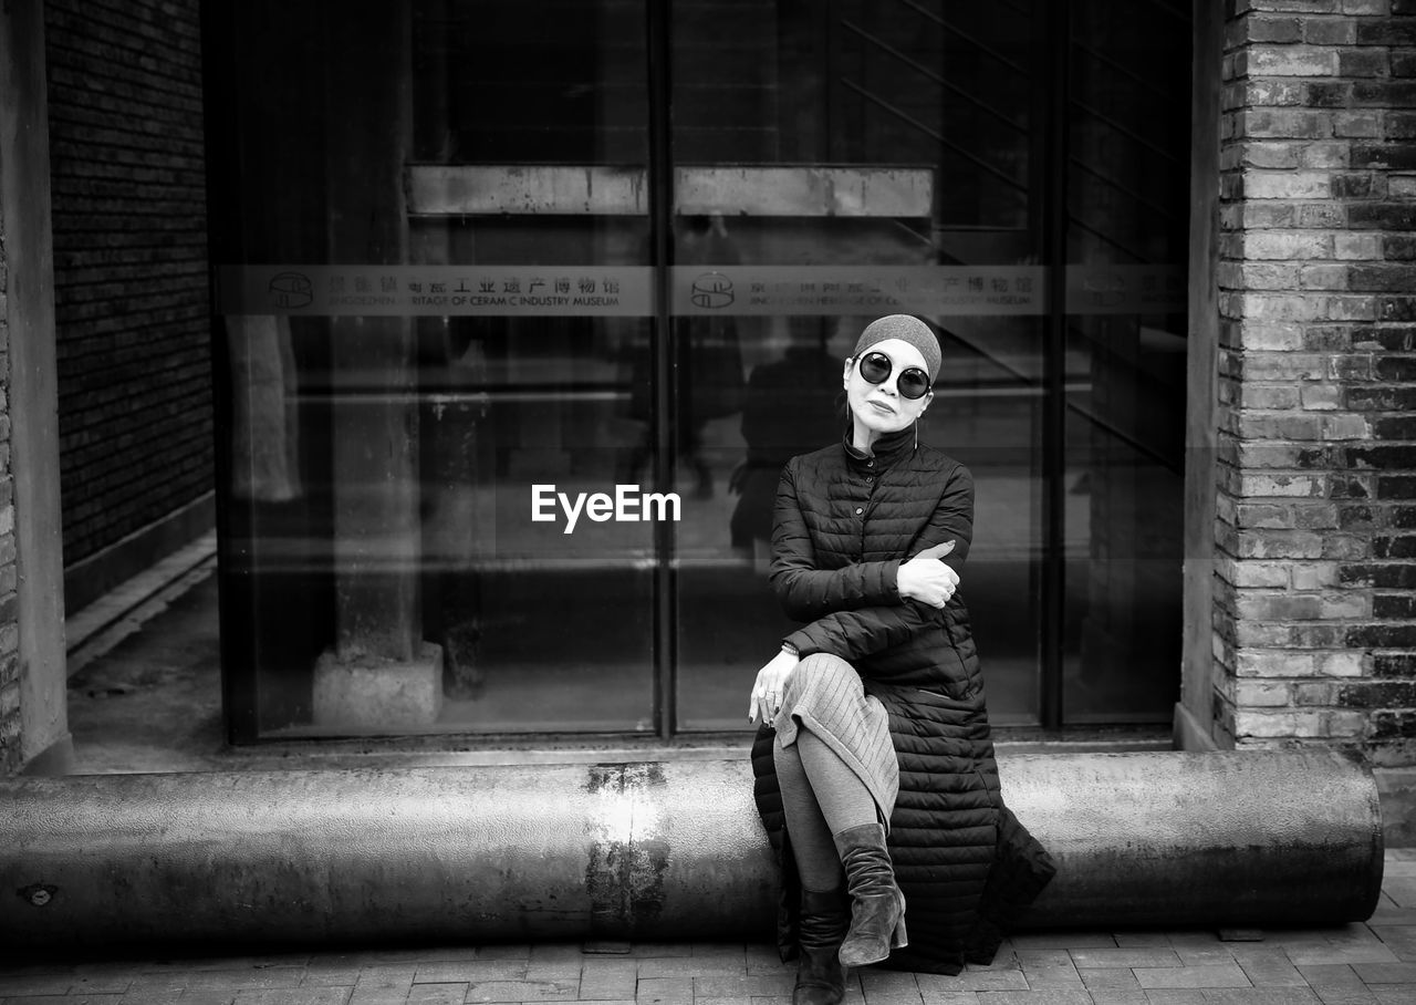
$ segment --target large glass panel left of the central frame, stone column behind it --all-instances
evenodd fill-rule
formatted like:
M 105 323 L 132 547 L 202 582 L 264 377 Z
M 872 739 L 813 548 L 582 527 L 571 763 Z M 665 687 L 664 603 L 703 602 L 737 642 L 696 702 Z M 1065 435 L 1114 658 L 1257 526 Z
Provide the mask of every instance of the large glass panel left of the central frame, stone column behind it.
M 651 734 L 646 7 L 309 7 L 207 20 L 234 734 Z

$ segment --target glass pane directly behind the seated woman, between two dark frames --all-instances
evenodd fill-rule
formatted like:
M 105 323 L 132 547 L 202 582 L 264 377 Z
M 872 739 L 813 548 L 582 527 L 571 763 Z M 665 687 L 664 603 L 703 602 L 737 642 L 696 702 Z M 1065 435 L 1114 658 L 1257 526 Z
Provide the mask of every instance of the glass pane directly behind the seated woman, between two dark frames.
M 1039 717 L 1048 79 L 1042 24 L 1018 13 L 674 9 L 675 352 L 694 400 L 715 374 L 681 438 L 704 488 L 680 532 L 683 729 L 745 727 L 789 629 L 766 581 L 777 476 L 841 439 L 843 360 L 895 312 L 943 347 L 920 435 L 977 482 L 961 593 L 993 717 Z

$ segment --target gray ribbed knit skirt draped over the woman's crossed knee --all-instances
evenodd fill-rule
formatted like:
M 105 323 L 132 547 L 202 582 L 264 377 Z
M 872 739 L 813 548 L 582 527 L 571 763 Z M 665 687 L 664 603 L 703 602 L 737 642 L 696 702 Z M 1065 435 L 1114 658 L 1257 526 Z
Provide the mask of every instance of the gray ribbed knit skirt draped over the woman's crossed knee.
M 889 829 L 899 794 L 899 760 L 885 706 L 865 693 L 854 666 L 824 652 L 804 656 L 787 678 L 782 712 L 772 727 L 783 747 L 796 743 L 797 730 L 806 729 L 835 751 L 865 782 L 881 824 Z

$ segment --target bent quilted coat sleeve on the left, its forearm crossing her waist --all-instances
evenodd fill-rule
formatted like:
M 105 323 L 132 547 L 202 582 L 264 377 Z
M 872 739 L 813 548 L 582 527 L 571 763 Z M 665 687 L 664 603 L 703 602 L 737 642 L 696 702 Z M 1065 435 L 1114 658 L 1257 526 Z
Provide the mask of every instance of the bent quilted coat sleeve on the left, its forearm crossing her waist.
M 816 547 L 796 492 L 796 461 L 782 469 L 772 519 L 772 566 L 767 573 L 782 610 L 793 621 L 861 607 L 899 604 L 899 560 L 861 561 L 817 568 Z

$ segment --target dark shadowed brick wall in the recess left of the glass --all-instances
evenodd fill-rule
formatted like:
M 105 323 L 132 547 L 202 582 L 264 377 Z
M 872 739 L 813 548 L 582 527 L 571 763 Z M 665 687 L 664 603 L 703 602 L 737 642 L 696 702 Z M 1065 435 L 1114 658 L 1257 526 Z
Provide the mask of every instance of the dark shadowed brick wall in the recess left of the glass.
M 212 488 L 197 0 L 50 0 L 64 561 Z

